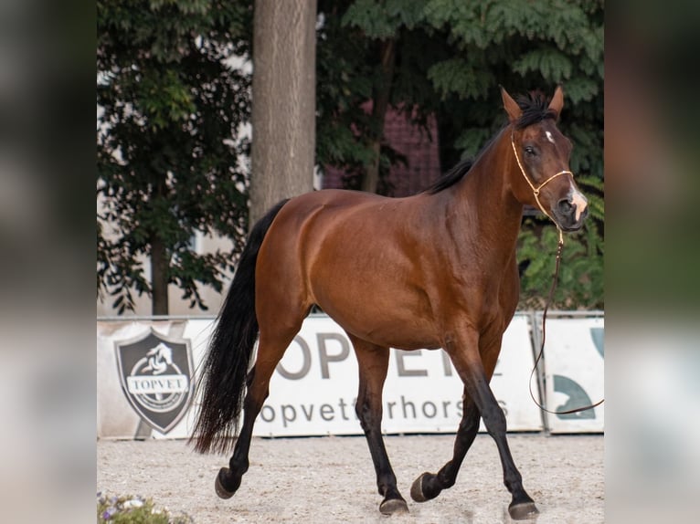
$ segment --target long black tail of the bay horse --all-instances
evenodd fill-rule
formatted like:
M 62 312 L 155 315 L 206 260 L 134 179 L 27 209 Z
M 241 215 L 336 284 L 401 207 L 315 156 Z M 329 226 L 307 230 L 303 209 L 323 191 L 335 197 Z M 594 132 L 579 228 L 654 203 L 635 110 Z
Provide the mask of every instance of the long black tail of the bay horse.
M 287 200 L 275 205 L 253 227 L 239 267 L 219 312 L 217 327 L 199 377 L 202 392 L 190 443 L 199 453 L 227 453 L 238 434 L 243 393 L 253 346 L 258 338 L 255 316 L 255 265 L 263 238 Z

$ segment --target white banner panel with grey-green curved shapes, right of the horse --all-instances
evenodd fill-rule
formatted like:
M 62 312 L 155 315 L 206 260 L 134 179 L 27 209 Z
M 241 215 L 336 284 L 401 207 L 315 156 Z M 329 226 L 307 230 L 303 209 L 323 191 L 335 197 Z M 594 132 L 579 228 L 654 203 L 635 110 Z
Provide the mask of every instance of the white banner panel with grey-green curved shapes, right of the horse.
M 548 410 L 567 411 L 597 403 L 605 396 L 603 333 L 603 318 L 546 321 Z M 605 403 L 575 414 L 547 414 L 552 433 L 600 433 L 604 423 Z

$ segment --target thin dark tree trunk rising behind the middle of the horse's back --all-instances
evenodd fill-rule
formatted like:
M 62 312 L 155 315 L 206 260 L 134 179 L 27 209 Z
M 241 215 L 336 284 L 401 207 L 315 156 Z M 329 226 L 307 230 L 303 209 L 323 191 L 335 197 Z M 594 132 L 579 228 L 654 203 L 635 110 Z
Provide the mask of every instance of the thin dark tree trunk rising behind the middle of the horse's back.
M 372 117 L 377 122 L 377 134 L 372 138 L 372 151 L 375 153 L 372 164 L 367 167 L 362 179 L 362 191 L 377 193 L 379 184 L 379 159 L 382 139 L 384 138 L 384 121 L 387 117 L 391 83 L 394 78 L 396 63 L 396 40 L 385 40 L 381 43 L 381 75 L 379 83 L 373 89 Z

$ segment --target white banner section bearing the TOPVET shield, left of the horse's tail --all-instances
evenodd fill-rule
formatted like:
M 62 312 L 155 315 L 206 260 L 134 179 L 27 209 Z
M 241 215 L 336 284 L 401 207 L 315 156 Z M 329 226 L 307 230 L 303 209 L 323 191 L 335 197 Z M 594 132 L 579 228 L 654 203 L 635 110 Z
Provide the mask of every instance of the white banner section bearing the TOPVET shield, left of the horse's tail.
M 186 438 L 213 320 L 97 325 L 97 435 Z

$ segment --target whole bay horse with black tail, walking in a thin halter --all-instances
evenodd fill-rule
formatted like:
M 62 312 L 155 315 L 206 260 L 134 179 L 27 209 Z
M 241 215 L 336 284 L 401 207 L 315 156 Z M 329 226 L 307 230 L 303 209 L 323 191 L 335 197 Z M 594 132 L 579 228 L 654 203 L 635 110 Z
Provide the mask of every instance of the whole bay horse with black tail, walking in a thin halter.
M 190 439 L 201 453 L 227 453 L 235 442 L 228 467 L 216 477 L 219 497 L 231 497 L 248 470 L 253 424 L 272 372 L 315 304 L 355 349 L 355 412 L 377 473 L 381 513 L 408 511 L 381 432 L 393 347 L 443 348 L 464 384 L 451 460 L 420 475 L 411 498 L 424 502 L 454 485 L 481 417 L 501 457 L 511 517 L 536 515 L 489 381 L 518 302 L 515 245 L 524 205 L 574 231 L 588 203 L 568 168 L 571 142 L 556 125 L 561 87 L 551 101 L 541 93 L 516 101 L 503 88 L 501 96 L 504 128 L 474 162 L 461 162 L 428 190 L 406 198 L 345 190 L 302 194 L 254 225 L 212 335 Z

